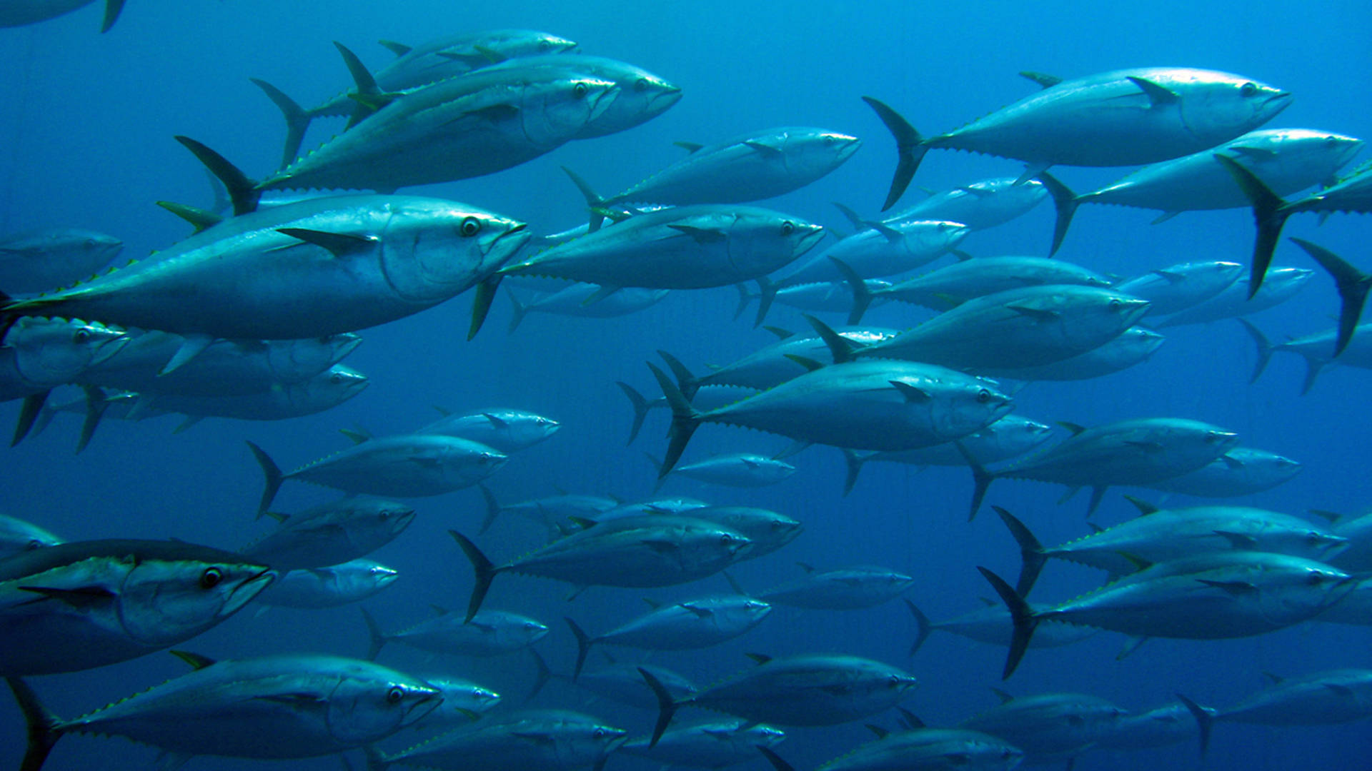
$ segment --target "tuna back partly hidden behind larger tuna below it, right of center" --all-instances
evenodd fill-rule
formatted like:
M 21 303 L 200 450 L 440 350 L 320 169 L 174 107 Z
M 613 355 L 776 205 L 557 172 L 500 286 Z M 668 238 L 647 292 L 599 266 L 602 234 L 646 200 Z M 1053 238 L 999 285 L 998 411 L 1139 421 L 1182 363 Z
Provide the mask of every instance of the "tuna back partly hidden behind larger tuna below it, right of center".
M 889 289 L 878 289 L 873 295 L 922 305 L 934 310 L 949 310 L 973 298 L 1044 284 L 1080 284 L 1104 289 L 1110 287 L 1110 280 L 1093 270 L 1061 259 L 978 257 L 907 278 L 893 284 Z M 1142 295 L 1133 295 L 1125 288 L 1118 289 L 1126 295 L 1147 299 Z

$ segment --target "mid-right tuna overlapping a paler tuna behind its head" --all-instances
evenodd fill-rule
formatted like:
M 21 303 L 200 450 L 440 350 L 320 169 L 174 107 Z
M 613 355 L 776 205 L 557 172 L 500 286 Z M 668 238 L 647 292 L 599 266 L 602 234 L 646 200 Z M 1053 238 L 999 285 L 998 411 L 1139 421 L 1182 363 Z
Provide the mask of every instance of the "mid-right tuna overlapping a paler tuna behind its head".
M 969 457 L 975 482 L 969 519 L 977 516 L 986 488 L 1000 477 L 1052 482 L 1073 490 L 1091 487 L 1089 514 L 1111 486 L 1147 486 L 1181 476 L 1239 443 L 1238 434 L 1174 417 L 1121 420 L 1093 428 L 1063 425 L 1073 432 L 1070 438 L 995 472 Z

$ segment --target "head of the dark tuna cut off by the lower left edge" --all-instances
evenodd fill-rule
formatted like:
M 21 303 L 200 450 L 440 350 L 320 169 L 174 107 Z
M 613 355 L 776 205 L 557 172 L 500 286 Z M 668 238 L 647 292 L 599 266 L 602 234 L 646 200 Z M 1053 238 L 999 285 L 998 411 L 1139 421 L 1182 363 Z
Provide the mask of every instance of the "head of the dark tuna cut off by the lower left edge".
M 187 546 L 184 556 L 132 556 L 119 583 L 118 616 L 129 638 L 150 648 L 189 639 L 232 616 L 276 579 L 228 551 Z

